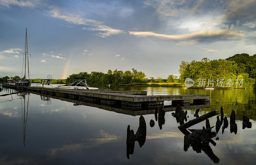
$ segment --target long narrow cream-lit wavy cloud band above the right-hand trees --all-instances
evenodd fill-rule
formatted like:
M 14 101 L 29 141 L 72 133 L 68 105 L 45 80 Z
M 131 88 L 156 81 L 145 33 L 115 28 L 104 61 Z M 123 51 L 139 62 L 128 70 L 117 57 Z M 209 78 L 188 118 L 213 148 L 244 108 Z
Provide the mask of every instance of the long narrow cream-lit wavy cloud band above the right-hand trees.
M 161 40 L 167 40 L 167 41 L 197 40 L 200 38 L 214 38 L 214 37 L 238 39 L 238 38 L 244 37 L 244 35 L 241 33 L 227 30 L 227 29 L 204 30 L 204 31 L 197 31 L 197 32 L 192 32 L 192 33 L 182 34 L 182 35 L 164 35 L 164 34 L 157 34 L 154 32 L 135 32 L 135 31 L 130 31 L 129 33 L 130 35 L 134 35 L 138 37 L 156 37 Z

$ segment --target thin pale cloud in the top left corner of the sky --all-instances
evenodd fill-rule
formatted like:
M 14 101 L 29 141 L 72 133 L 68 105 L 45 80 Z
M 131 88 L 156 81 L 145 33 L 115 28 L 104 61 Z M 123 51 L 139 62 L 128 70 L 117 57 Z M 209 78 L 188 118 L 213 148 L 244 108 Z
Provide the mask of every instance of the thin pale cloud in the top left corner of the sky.
M 10 5 L 20 7 L 36 7 L 40 3 L 40 0 L 0 0 L 0 7 L 10 8 Z

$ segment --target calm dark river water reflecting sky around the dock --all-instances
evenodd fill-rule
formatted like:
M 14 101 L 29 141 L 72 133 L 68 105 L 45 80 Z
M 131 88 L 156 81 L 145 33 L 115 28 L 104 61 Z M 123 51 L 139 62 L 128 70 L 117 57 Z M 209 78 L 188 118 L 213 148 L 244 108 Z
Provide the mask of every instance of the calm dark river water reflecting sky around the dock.
M 1 87 L 1 86 L 0 86 Z M 209 94 L 208 108 L 199 116 L 220 106 L 228 117 L 228 128 L 212 138 L 212 152 L 219 164 L 255 164 L 256 154 L 256 91 L 202 90 L 165 87 L 98 86 L 112 90 L 146 90 L 148 95 Z M 1 87 L 3 88 L 3 87 Z M 13 94 L 10 94 L 12 93 Z M 196 109 L 188 110 L 188 120 L 194 119 Z M 236 111 L 237 133 L 230 133 L 229 117 Z M 0 163 L 1 164 L 214 164 L 204 151 L 196 153 L 192 147 L 185 152 L 184 134 L 180 124 L 166 112 L 160 130 L 155 114 L 143 115 L 147 124 L 145 144 L 135 142 L 133 154 L 126 156 L 127 126 L 136 133 L 139 115 L 132 116 L 47 98 L 32 93 L 14 94 L 10 89 L 0 92 Z M 242 129 L 243 115 L 252 128 Z M 155 126 L 150 127 L 153 119 Z M 216 116 L 209 119 L 211 126 Z M 191 128 L 202 129 L 205 122 Z M 212 129 L 215 131 L 215 127 Z M 216 161 L 215 161 L 216 162 Z

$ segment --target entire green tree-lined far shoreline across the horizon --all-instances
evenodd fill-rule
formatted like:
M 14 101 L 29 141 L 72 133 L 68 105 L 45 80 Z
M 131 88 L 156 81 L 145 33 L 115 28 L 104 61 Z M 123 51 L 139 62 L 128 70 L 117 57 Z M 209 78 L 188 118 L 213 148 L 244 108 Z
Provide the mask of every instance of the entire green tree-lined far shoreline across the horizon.
M 73 82 L 74 77 L 80 77 L 86 78 L 87 84 L 181 87 L 184 86 L 185 79 L 189 77 L 195 81 L 194 86 L 199 87 L 209 86 L 209 82 L 211 82 L 210 85 L 214 87 L 255 88 L 256 54 L 250 56 L 242 53 L 235 54 L 227 59 L 210 60 L 203 58 L 201 61 L 181 61 L 179 67 L 179 79 L 174 75 L 169 75 L 167 79 L 162 79 L 161 77 L 150 77 L 148 79 L 144 72 L 132 68 L 131 71 L 124 72 L 117 69 L 114 71 L 108 70 L 107 73 L 97 71 L 92 71 L 91 73 L 80 72 L 69 75 L 67 79 L 52 79 L 51 83 L 69 84 Z M 0 78 L 0 82 L 7 82 L 7 78 L 9 77 Z M 10 78 L 16 80 L 20 77 L 14 76 Z M 220 86 L 220 80 L 222 80 L 223 86 Z M 241 80 L 243 80 L 242 84 Z M 40 83 L 40 81 L 41 79 L 31 79 L 31 83 Z M 237 85 L 236 83 L 240 84 Z

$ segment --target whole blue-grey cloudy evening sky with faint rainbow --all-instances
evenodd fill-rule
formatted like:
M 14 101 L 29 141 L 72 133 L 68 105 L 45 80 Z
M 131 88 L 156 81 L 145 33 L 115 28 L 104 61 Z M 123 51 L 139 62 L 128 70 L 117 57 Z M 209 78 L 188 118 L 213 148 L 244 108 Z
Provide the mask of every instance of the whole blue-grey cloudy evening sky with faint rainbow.
M 256 54 L 256 0 L 0 0 L 0 76 L 142 71 L 179 76 L 181 61 Z M 28 76 L 27 76 L 28 77 Z

